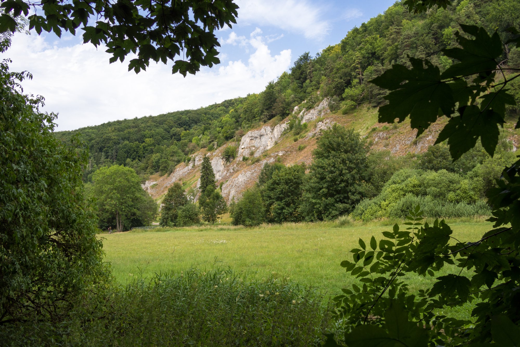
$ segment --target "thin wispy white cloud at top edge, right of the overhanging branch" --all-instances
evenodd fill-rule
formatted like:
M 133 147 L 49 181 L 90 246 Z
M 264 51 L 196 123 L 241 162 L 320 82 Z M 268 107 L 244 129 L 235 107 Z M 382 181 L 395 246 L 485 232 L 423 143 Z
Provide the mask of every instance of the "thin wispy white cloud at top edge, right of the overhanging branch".
M 330 31 L 321 9 L 308 0 L 237 0 L 239 23 L 272 25 L 320 40 Z

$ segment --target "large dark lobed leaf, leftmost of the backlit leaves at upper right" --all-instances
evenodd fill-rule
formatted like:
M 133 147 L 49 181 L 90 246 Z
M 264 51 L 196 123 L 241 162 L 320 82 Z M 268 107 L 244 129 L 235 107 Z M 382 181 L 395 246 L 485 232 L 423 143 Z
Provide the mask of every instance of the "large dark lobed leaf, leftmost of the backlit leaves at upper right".
M 371 83 L 392 91 L 385 99 L 388 104 L 379 108 L 379 122 L 402 122 L 410 115 L 410 125 L 420 136 L 443 114 L 454 112 L 455 101 L 451 88 L 441 82 L 439 68 L 430 61 L 410 58 L 412 69 L 394 65 Z

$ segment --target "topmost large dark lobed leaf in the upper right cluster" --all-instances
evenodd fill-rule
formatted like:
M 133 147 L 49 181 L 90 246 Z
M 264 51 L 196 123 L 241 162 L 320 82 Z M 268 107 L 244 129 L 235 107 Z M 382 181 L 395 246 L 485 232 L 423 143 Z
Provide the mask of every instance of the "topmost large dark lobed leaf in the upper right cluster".
M 497 68 L 496 59 L 502 55 L 500 36 L 497 32 L 489 36 L 484 28 L 475 25 L 460 24 L 460 27 L 475 38 L 469 40 L 458 32 L 455 34 L 462 48 L 443 49 L 443 53 L 460 62 L 449 67 L 441 76 L 442 79 L 479 73 L 491 75 L 491 71 Z

